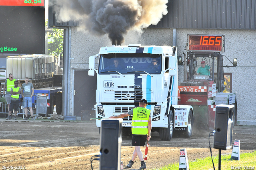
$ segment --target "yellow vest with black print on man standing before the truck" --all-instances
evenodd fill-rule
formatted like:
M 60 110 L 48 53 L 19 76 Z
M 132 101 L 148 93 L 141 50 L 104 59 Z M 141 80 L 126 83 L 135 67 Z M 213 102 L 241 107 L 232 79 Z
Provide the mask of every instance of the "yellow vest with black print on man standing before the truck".
M 132 134 L 148 134 L 150 110 L 144 107 L 137 107 L 132 111 Z

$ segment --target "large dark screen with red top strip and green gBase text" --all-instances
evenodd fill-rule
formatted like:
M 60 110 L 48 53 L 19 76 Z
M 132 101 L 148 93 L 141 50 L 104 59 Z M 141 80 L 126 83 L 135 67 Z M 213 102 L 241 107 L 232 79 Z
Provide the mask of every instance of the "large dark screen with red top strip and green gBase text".
M 0 0 L 0 53 L 44 54 L 44 0 Z

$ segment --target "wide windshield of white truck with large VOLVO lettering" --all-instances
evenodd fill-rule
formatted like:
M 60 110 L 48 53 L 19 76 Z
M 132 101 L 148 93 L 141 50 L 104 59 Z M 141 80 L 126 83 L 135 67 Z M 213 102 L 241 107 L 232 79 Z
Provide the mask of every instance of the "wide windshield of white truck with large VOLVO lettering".
M 100 55 L 99 74 L 160 74 L 162 54 L 149 53 L 109 53 Z M 119 72 L 119 73 L 118 73 Z

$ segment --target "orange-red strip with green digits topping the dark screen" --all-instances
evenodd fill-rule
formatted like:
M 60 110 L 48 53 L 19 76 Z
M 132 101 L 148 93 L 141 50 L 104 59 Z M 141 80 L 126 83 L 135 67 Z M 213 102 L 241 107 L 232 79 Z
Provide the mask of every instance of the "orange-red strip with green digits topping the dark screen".
M 44 0 L 0 0 L 0 6 L 44 6 Z

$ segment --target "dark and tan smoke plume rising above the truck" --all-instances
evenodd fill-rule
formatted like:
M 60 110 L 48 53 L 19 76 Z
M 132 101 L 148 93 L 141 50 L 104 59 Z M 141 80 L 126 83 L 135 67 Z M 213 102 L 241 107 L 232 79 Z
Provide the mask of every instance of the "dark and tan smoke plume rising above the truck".
M 167 14 L 168 0 L 55 0 L 59 22 L 79 21 L 86 30 L 108 34 L 112 44 L 124 42 L 129 30 L 156 25 Z

